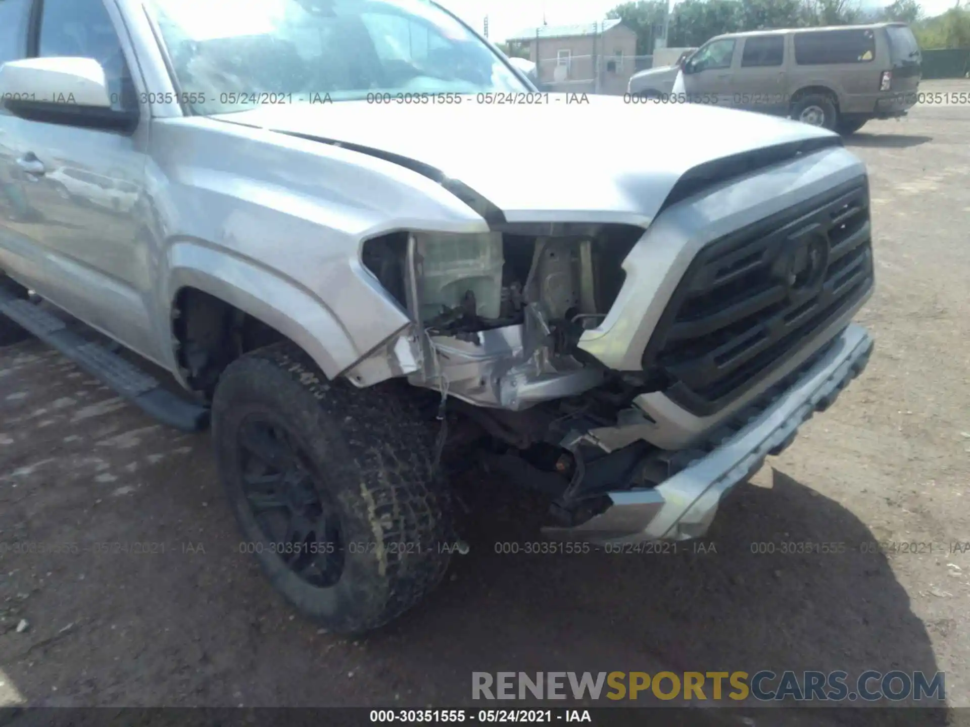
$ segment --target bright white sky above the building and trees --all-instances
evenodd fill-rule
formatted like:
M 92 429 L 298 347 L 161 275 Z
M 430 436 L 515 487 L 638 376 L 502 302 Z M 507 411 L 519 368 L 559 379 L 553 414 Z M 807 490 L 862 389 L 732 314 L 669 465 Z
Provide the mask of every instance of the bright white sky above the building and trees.
M 550 25 L 595 22 L 620 4 L 620 0 L 438 0 L 461 16 L 477 30 L 489 16 L 489 39 L 503 41 L 518 31 L 542 24 L 542 15 Z M 923 13 L 937 16 L 954 6 L 955 0 L 921 0 Z M 864 7 L 887 4 L 879 0 L 862 0 Z

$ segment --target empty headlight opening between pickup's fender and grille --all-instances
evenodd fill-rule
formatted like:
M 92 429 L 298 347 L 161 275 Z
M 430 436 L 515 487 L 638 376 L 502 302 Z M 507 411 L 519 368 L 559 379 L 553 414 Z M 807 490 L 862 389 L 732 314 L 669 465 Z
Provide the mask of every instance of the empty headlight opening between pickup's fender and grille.
M 422 330 L 463 335 L 520 325 L 534 303 L 568 348 L 609 310 L 640 235 L 621 225 L 401 232 L 365 242 L 362 262 Z

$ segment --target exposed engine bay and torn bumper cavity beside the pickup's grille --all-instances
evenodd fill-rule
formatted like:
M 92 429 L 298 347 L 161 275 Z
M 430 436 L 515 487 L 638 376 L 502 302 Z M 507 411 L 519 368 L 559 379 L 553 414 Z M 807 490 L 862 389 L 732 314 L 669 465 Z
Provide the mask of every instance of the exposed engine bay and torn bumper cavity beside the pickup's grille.
M 542 227 L 380 237 L 365 244 L 363 262 L 421 332 L 404 373 L 439 395 L 428 401 L 448 450 L 550 495 L 554 520 L 569 524 L 601 510 L 600 493 L 618 483 L 649 486 L 644 455 L 661 454 L 642 440 L 614 452 L 591 434 L 616 427 L 648 382 L 576 346 L 616 300 L 621 265 L 643 231 Z M 483 437 L 493 445 L 481 447 Z M 653 479 L 668 474 L 664 460 Z

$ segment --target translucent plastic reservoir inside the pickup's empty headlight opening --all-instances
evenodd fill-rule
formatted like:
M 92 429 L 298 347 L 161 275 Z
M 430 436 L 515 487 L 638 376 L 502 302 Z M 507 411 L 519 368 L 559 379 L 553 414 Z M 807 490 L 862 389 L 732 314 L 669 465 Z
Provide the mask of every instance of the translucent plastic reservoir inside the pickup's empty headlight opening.
M 501 306 L 501 233 L 415 235 L 423 259 L 421 317 L 457 308 L 468 291 L 481 318 L 498 318 Z

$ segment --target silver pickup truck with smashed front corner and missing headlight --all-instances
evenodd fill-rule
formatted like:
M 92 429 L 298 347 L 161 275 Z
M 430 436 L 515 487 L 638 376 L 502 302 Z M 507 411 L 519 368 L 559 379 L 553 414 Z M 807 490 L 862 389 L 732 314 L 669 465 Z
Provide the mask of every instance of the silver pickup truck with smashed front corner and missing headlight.
M 0 337 L 210 423 L 301 613 L 418 602 L 458 465 L 541 491 L 570 547 L 703 536 L 865 366 L 835 134 L 539 93 L 426 0 L 240 8 L 0 0 Z

